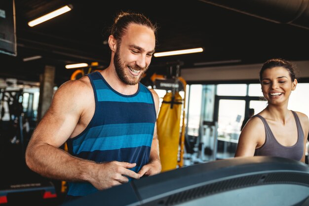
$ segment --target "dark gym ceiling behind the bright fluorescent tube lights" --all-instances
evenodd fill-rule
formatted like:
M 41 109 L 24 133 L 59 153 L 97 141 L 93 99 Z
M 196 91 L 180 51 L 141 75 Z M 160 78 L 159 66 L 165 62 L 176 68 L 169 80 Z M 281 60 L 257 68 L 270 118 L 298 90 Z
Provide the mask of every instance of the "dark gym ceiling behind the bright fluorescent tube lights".
M 71 4 L 73 10 L 32 28 L 27 25 L 65 4 Z M 4 63 L 0 77 L 4 78 L 39 81 L 44 66 L 52 65 L 56 67 L 55 82 L 62 84 L 74 71 L 65 69 L 66 64 L 99 62 L 98 69 L 106 68 L 110 51 L 104 41 L 120 10 L 144 13 L 157 23 L 157 52 L 204 48 L 197 54 L 153 57 L 150 74 L 165 72 L 168 63 L 177 61 L 183 63 L 184 69 L 226 62 L 263 63 L 272 57 L 309 60 L 309 29 L 271 22 L 201 0 L 15 0 L 15 9 L 17 56 L 0 54 Z M 263 9 L 260 13 L 263 15 Z M 42 58 L 22 61 L 34 55 Z

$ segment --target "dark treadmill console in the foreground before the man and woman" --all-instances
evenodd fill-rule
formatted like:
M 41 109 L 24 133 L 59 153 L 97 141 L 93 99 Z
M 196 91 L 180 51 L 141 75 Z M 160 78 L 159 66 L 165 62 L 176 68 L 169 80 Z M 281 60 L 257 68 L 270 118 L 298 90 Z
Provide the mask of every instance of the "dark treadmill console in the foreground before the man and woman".
M 308 206 L 309 166 L 238 157 L 133 180 L 62 206 Z

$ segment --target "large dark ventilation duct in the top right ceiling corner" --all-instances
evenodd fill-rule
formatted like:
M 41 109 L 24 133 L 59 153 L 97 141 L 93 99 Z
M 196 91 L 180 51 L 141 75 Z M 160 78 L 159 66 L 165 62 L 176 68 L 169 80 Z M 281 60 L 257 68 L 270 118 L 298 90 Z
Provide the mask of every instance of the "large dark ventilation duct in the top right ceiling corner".
M 200 0 L 280 24 L 309 29 L 309 0 Z

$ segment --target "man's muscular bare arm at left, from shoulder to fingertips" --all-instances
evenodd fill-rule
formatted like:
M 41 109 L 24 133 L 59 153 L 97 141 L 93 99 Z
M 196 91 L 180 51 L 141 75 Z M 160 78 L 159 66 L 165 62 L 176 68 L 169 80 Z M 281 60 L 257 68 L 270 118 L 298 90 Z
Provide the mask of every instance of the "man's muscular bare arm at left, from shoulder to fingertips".
M 27 146 L 28 167 L 49 178 L 88 181 L 97 189 L 127 182 L 123 175 L 138 179 L 139 174 L 127 169 L 135 164 L 116 161 L 98 164 L 59 149 L 72 135 L 80 116 L 87 112 L 85 105 L 89 98 L 85 95 L 92 92 L 90 89 L 89 84 L 82 80 L 69 81 L 59 87 Z

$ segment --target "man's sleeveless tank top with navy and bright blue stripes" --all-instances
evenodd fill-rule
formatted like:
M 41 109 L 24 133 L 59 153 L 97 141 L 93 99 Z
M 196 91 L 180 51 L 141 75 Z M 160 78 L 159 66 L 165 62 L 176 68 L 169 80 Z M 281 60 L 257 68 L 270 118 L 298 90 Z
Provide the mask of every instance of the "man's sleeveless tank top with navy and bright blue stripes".
M 149 161 L 156 111 L 152 93 L 139 83 L 133 95 L 114 90 L 100 72 L 87 74 L 95 98 L 95 112 L 86 129 L 68 139 L 69 152 L 98 163 L 136 163 L 139 172 Z M 67 199 L 98 191 L 88 182 L 69 182 Z M 70 198 L 71 196 L 71 198 Z

